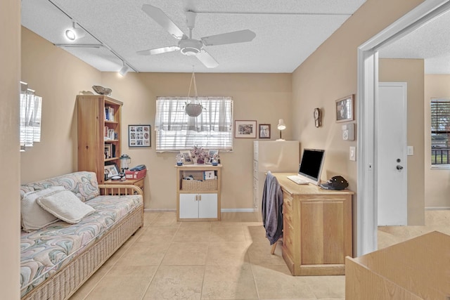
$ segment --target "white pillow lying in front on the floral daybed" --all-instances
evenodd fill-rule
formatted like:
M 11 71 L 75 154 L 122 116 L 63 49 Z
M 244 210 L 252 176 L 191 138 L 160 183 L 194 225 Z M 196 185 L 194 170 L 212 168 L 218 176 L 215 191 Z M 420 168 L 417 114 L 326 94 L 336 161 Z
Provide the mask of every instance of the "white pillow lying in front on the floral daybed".
M 58 219 L 76 224 L 85 216 L 96 211 L 88 204 L 84 204 L 70 190 L 61 190 L 52 195 L 37 198 L 37 203 Z

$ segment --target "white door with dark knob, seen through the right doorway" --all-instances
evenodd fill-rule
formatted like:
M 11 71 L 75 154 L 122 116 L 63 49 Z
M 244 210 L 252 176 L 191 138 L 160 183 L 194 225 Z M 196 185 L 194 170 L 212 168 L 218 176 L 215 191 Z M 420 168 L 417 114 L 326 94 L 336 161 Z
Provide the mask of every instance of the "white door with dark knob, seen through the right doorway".
M 380 82 L 375 103 L 378 226 L 407 225 L 406 82 Z

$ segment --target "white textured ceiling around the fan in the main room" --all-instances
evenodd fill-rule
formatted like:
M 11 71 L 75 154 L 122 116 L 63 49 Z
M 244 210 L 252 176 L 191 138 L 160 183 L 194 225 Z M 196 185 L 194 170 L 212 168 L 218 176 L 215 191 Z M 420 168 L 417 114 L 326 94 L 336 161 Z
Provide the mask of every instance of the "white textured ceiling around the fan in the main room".
M 72 18 L 94 36 L 86 34 L 72 44 L 104 46 L 63 48 L 106 72 L 120 70 L 120 58 L 138 72 L 293 72 L 364 1 L 23 0 L 22 25 L 53 44 L 68 44 L 63 32 L 72 27 Z M 185 13 L 195 11 L 195 39 L 245 29 L 256 37 L 240 44 L 205 47 L 219 63 L 214 69 L 179 51 L 139 56 L 136 51 L 177 43 L 141 10 L 143 4 L 160 8 L 187 35 Z

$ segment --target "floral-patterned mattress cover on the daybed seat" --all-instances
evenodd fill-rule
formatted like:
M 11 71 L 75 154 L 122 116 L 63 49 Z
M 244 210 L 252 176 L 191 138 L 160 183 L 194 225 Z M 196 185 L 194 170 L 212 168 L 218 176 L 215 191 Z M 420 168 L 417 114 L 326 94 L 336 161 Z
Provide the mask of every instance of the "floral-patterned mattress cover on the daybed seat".
M 77 224 L 52 223 L 20 240 L 21 296 L 56 273 L 142 203 L 141 195 L 97 196 L 85 202 L 96 211 Z

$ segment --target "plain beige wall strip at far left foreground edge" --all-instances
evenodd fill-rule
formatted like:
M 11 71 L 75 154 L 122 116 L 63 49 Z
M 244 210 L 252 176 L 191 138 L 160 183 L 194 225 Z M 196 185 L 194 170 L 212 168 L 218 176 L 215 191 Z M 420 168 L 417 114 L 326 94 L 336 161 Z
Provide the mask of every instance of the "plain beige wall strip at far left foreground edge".
M 0 293 L 19 299 L 20 286 L 20 1 L 0 2 Z

